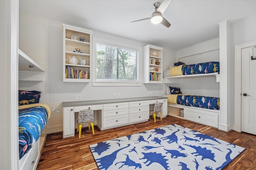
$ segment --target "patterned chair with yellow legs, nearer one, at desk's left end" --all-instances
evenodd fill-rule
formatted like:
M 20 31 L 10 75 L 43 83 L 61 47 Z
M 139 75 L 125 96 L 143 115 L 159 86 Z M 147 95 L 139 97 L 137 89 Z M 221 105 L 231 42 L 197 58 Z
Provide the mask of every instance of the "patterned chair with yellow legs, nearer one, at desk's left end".
M 77 121 L 77 131 L 79 131 L 79 138 L 81 137 L 82 124 L 88 123 L 88 127 L 90 129 L 90 125 L 92 126 L 92 134 L 94 135 L 94 113 L 92 109 L 80 110 L 78 113 L 78 121 Z

